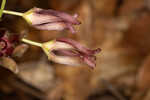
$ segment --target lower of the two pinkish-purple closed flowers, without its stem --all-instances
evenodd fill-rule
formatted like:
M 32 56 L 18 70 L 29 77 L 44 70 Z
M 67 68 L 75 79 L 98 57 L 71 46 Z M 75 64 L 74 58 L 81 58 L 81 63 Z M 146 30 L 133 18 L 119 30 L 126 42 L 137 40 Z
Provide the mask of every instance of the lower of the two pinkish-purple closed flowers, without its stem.
M 100 48 L 91 50 L 68 38 L 58 38 L 43 43 L 42 48 L 48 55 L 48 58 L 56 63 L 74 66 L 85 63 L 91 68 L 96 66 L 95 54 L 101 51 Z

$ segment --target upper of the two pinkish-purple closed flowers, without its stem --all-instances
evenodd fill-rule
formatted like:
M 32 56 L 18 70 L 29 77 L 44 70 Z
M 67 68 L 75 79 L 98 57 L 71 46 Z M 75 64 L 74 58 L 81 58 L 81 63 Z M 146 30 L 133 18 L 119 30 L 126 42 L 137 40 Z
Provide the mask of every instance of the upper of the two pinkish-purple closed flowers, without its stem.
M 79 25 L 80 22 L 76 19 L 77 14 L 71 16 L 64 12 L 55 11 L 52 9 L 44 10 L 40 8 L 33 8 L 24 13 L 23 17 L 33 27 L 40 30 L 64 30 L 69 29 L 75 33 L 72 25 Z

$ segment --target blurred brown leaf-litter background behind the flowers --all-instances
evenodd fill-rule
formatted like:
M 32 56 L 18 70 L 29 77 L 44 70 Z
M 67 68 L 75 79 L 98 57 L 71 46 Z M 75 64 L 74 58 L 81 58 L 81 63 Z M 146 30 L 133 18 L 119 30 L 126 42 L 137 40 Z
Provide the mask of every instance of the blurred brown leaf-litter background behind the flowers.
M 0 100 L 150 100 L 150 0 L 7 0 L 5 9 L 33 7 L 78 13 L 82 24 L 74 35 L 40 31 L 20 17 L 4 15 L 0 27 L 38 42 L 69 37 L 100 47 L 97 66 L 56 64 L 30 46 L 13 58 L 18 74 L 0 67 Z

